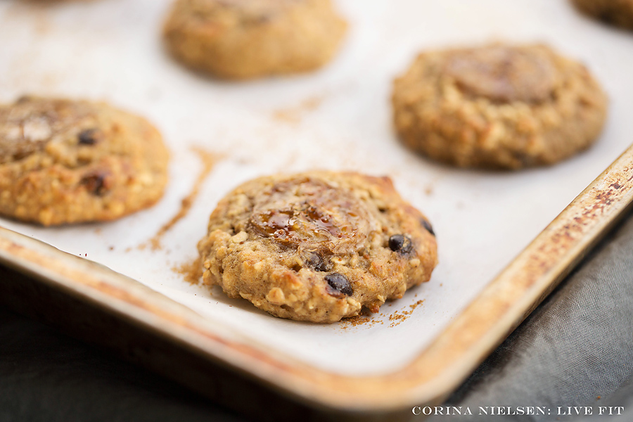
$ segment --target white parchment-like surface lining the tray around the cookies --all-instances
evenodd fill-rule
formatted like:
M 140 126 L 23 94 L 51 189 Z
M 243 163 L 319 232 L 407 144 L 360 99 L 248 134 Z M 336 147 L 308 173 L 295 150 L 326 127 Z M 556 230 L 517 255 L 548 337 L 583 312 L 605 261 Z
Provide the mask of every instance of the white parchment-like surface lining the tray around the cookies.
M 327 371 L 369 375 L 407 364 L 618 157 L 633 132 L 633 37 L 583 18 L 564 0 L 339 1 L 350 33 L 331 65 L 238 84 L 189 72 L 165 54 L 159 32 L 168 4 L 0 3 L 0 101 L 25 93 L 103 99 L 148 117 L 172 150 L 170 185 L 150 210 L 107 224 L 0 224 L 105 264 Z M 416 52 L 498 39 L 546 41 L 587 63 L 610 97 L 596 146 L 555 167 L 508 173 L 455 170 L 399 145 L 391 81 Z M 203 170 L 194 146 L 215 154 L 215 166 L 191 210 L 153 250 L 148 242 L 177 215 Z M 437 233 L 440 265 L 431 281 L 388 302 L 369 323 L 315 325 L 276 319 L 174 271 L 196 257 L 224 193 L 262 174 L 314 167 L 390 175 Z

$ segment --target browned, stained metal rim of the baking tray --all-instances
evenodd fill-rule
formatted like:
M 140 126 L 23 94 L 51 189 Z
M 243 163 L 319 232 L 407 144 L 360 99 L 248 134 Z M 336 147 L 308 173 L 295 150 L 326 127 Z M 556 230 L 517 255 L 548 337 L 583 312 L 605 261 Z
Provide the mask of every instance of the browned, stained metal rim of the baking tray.
M 0 227 L 0 263 L 123 316 L 300 402 L 390 412 L 437 404 L 528 316 L 633 202 L 633 146 L 590 184 L 433 342 L 380 376 L 317 369 L 222 327 L 115 271 Z

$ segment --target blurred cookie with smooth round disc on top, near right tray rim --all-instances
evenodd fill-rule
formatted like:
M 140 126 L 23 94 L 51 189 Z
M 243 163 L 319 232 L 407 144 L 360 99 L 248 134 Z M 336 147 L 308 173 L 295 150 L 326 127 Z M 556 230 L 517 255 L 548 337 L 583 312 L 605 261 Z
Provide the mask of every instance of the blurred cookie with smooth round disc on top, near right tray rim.
M 587 68 L 544 45 L 421 53 L 395 80 L 403 143 L 459 167 L 551 165 L 588 148 L 607 99 Z

